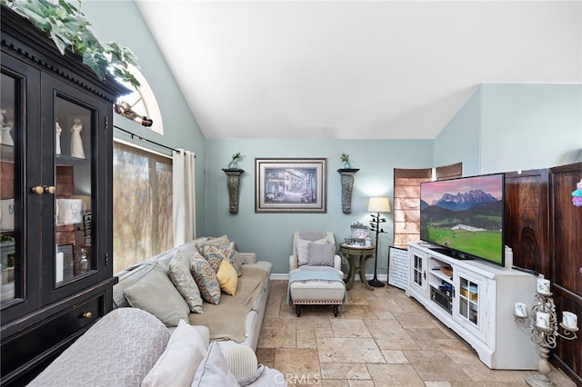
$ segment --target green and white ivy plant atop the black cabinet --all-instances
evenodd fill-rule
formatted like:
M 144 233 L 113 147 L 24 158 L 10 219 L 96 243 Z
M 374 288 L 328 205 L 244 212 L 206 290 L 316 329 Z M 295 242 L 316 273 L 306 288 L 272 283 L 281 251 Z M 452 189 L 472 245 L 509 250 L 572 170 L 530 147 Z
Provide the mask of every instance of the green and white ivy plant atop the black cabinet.
M 39 30 L 50 36 L 56 48 L 65 55 L 69 48 L 83 58 L 83 63 L 105 79 L 109 74 L 133 86 L 139 86 L 127 65 L 136 65 L 134 53 L 114 42 L 101 43 L 93 35 L 89 21 L 81 12 L 81 1 L 72 5 L 66 0 L 1 0 L 16 14 L 28 19 Z

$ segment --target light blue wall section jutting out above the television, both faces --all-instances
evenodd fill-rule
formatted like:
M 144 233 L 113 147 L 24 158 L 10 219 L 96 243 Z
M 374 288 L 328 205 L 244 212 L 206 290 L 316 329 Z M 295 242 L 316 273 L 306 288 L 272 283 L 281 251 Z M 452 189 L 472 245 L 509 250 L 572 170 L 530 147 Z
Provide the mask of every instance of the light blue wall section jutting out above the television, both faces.
M 435 141 L 435 164 L 465 176 L 548 168 L 582 157 L 582 85 L 482 84 Z

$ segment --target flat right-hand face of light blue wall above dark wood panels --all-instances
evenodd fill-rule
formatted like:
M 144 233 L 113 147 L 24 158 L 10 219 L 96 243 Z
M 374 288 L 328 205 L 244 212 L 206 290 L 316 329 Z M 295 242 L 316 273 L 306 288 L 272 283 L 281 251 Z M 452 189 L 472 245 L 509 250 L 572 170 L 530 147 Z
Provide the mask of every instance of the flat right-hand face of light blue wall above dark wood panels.
M 483 84 L 481 173 L 574 162 L 582 149 L 582 85 Z

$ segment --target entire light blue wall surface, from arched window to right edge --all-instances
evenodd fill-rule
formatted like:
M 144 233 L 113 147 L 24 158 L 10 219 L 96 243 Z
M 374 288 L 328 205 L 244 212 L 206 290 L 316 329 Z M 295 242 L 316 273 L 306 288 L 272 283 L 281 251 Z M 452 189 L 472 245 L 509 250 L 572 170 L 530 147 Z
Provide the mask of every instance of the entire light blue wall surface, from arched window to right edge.
M 112 9 L 115 8 L 115 12 Z M 467 100 L 436 140 L 206 140 L 191 114 L 156 42 L 133 2 L 85 0 L 83 12 L 104 41 L 130 47 L 158 97 L 165 134 L 152 133 L 123 117 L 115 124 L 171 147 L 196 153 L 197 234 L 227 234 L 242 251 L 271 261 L 274 273 L 286 273 L 292 235 L 325 229 L 337 242 L 349 225 L 369 224 L 367 198 L 393 198 L 394 168 L 425 168 L 463 162 L 464 174 L 533 169 L 577 161 L 582 149 L 580 85 L 484 84 Z M 120 134 L 122 136 L 122 134 Z M 139 143 L 147 146 L 146 143 Z M 155 149 L 155 147 L 153 147 Z M 232 154 L 244 155 L 239 213 L 228 213 L 226 174 Z M 341 211 L 339 155 L 350 154 L 356 174 L 352 213 Z M 326 213 L 255 213 L 255 158 L 327 159 Z M 381 234 L 379 273 L 386 273 L 392 243 L 392 214 Z M 371 273 L 372 267 L 367 272 Z

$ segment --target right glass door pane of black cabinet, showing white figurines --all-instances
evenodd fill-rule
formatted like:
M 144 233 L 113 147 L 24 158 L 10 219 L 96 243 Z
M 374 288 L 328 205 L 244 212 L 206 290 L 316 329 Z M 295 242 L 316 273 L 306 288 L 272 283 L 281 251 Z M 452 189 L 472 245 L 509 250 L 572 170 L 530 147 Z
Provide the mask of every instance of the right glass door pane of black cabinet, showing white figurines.
M 55 285 L 94 269 L 91 259 L 95 112 L 55 97 Z

